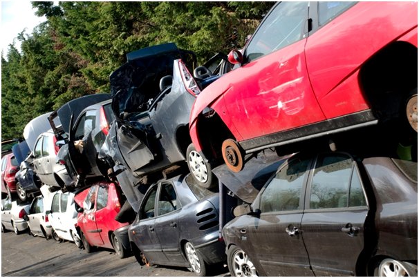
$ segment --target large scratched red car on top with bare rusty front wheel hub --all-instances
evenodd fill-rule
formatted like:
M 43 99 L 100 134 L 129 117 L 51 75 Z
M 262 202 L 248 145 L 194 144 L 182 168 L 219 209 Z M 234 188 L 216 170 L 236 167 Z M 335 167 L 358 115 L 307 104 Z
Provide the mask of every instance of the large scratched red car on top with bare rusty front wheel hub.
M 394 119 L 418 130 L 417 2 L 277 3 L 229 61 L 189 120 L 207 165 Z

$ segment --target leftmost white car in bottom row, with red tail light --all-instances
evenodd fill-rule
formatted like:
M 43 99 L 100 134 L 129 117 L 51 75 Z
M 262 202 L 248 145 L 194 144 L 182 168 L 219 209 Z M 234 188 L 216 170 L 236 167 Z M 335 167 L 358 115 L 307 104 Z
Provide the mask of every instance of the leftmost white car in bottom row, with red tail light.
M 1 232 L 12 230 L 16 235 L 28 228 L 24 216 L 28 214 L 30 203 L 17 204 L 9 197 L 1 201 Z

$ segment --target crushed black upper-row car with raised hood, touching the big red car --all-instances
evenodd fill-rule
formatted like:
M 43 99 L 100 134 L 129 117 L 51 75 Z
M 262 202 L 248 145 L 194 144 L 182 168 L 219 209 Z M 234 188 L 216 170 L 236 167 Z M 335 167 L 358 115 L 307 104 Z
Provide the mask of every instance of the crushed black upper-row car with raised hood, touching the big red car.
M 174 43 L 130 52 L 127 60 L 110 76 L 115 123 L 102 158 L 111 157 L 118 182 L 137 210 L 147 186 L 165 177 L 165 171 L 187 170 L 186 158 L 194 154 L 188 130 L 192 104 L 205 86 L 231 67 L 227 57 L 218 54 L 194 69 L 195 54 Z M 192 173 L 209 188 L 217 183 L 202 162 L 201 177 Z

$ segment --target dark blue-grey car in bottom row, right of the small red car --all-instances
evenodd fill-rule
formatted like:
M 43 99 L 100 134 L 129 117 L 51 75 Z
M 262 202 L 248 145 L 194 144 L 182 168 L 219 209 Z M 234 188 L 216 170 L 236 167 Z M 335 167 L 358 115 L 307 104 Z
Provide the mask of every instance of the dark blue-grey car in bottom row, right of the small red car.
M 219 232 L 219 195 L 192 175 L 159 181 L 149 188 L 129 228 L 138 262 L 187 267 L 205 276 L 207 265 L 225 261 Z

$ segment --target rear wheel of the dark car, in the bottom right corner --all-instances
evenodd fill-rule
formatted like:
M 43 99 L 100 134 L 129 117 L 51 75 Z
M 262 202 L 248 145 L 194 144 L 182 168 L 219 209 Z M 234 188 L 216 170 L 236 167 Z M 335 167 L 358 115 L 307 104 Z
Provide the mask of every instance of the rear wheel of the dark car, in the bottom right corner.
M 374 270 L 374 276 L 418 276 L 418 266 L 395 259 L 383 259 Z

